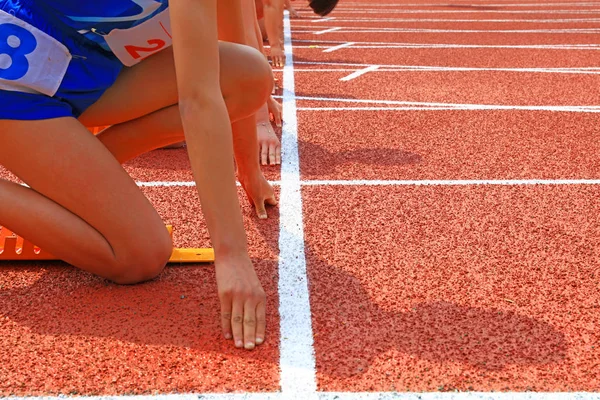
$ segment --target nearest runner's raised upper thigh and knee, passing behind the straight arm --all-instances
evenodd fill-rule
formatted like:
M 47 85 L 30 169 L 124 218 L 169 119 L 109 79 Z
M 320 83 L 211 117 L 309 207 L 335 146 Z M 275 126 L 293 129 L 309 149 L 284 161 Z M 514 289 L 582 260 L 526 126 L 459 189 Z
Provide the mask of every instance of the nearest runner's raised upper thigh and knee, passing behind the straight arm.
M 221 92 L 225 99 L 258 87 L 256 77 L 264 76 L 265 68 L 268 69 L 262 54 L 249 46 L 220 42 L 219 58 Z M 125 68 L 79 121 L 85 126 L 115 125 L 177 102 L 175 63 L 172 48 L 168 48 Z

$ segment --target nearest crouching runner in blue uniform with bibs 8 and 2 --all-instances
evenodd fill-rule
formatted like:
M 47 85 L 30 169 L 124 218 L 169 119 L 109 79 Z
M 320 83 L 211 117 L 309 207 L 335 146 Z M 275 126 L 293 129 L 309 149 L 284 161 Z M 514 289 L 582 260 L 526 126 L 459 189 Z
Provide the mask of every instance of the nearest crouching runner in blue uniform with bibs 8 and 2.
M 171 239 L 121 163 L 185 135 L 223 334 L 253 349 L 265 340 L 265 293 L 234 155 L 255 205 L 273 189 L 256 137 L 235 137 L 231 124 L 265 104 L 273 79 L 260 52 L 218 40 L 243 41 L 238 1 L 0 0 L 0 164 L 27 184 L 0 179 L 0 225 L 114 282 L 152 279 Z

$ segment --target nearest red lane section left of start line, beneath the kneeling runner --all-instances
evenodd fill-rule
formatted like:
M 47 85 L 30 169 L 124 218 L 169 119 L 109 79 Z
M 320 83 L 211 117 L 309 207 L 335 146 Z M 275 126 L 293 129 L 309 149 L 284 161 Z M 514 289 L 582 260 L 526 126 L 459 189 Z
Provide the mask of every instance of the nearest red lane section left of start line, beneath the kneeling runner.
M 194 191 L 144 189 L 179 247 L 209 244 Z M 61 263 L 2 265 L 0 395 L 276 391 L 277 215 L 260 225 L 245 215 L 271 310 L 258 351 L 223 339 L 212 265 L 172 266 L 137 286 Z

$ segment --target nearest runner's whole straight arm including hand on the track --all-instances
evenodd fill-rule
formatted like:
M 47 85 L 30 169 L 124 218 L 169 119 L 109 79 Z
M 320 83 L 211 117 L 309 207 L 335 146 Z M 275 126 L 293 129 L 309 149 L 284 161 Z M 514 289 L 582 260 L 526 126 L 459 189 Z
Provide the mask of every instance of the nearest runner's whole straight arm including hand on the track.
M 219 84 L 216 0 L 171 0 L 181 119 L 215 249 L 222 326 L 237 347 L 264 340 L 265 298 L 247 250 L 229 115 Z

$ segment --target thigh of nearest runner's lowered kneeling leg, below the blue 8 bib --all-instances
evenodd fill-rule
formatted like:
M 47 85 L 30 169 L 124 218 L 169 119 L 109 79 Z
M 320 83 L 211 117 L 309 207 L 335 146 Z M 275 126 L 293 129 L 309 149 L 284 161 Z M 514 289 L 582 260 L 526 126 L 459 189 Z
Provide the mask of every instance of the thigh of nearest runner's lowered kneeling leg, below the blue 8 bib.
M 166 233 L 136 183 L 74 118 L 0 120 L 0 165 L 94 227 L 116 256 L 143 241 L 141 232 Z

